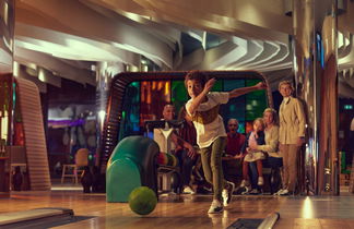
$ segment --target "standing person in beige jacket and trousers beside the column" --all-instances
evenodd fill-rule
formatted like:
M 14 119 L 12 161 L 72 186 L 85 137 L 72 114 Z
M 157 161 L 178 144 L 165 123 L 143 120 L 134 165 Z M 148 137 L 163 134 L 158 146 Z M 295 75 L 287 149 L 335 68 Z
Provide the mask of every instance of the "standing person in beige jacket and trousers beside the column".
M 305 113 L 300 101 L 292 97 L 294 88 L 290 81 L 279 84 L 283 96 L 280 106 L 280 150 L 283 154 L 284 181 L 280 195 L 293 194 L 297 182 L 297 161 L 300 146 L 305 142 Z

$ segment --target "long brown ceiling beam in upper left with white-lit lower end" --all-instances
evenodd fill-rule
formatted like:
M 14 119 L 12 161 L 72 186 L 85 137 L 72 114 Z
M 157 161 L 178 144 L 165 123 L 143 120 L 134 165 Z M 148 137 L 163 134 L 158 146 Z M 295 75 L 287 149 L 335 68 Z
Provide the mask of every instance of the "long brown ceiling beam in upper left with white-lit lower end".
M 32 23 L 35 26 L 56 28 L 59 32 L 78 35 L 106 44 L 119 44 L 119 48 L 158 59 L 169 68 L 173 67 L 173 50 L 155 36 L 135 29 L 118 20 L 113 20 L 97 13 L 79 1 L 60 0 L 23 0 L 16 4 L 32 13 L 32 19 L 19 10 L 16 21 Z M 63 13 L 64 12 L 64 13 Z M 76 16 L 76 15 L 80 16 Z M 37 16 L 37 20 L 33 19 Z M 54 23 L 44 23 L 49 20 Z

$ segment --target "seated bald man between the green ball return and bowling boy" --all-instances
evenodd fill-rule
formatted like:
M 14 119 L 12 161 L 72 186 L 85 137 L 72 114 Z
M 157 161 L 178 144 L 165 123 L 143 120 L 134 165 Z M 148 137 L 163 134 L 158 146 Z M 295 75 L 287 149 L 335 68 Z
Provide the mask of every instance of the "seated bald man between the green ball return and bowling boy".
M 173 120 L 174 117 L 175 107 L 167 104 L 163 110 L 163 119 L 169 121 Z M 190 188 L 189 182 L 191 169 L 197 154 L 194 147 L 180 137 L 177 131 L 174 129 L 154 129 L 154 140 L 157 142 L 161 152 L 172 153 L 178 158 L 181 169 L 182 191 L 193 194 L 194 191 Z

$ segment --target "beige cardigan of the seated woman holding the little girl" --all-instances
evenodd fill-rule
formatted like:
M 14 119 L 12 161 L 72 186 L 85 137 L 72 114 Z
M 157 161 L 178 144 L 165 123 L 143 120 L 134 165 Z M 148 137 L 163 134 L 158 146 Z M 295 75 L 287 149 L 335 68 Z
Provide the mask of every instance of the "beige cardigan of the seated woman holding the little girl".
M 266 135 L 266 145 L 258 145 L 257 149 L 267 152 L 271 157 L 282 157 L 281 154 L 278 152 L 279 145 L 279 126 L 273 125 L 269 130 L 264 130 Z

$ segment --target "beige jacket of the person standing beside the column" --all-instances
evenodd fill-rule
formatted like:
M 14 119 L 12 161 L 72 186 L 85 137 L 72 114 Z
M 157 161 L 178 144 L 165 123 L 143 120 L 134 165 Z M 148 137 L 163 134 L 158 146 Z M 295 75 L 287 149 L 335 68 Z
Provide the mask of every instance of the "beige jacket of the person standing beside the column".
M 297 144 L 298 137 L 305 136 L 305 113 L 297 98 L 284 98 L 279 111 L 281 144 Z

